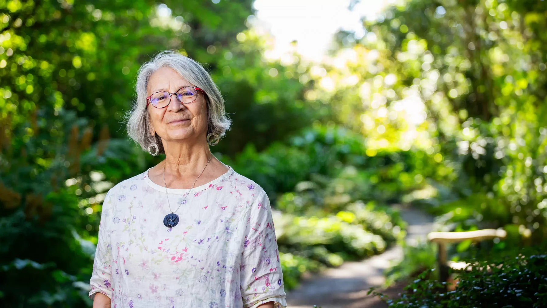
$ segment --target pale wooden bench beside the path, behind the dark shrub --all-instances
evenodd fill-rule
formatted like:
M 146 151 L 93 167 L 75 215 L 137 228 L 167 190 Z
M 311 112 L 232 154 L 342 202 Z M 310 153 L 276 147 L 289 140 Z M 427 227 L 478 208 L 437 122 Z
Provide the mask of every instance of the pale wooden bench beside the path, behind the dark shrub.
M 437 263 L 439 267 L 439 280 L 446 282 L 448 280 L 449 268 L 454 270 L 469 269 L 472 264 L 465 262 L 447 261 L 446 245 L 450 243 L 459 243 L 470 239 L 473 242 L 481 242 L 486 239 L 505 239 L 507 231 L 502 229 L 483 229 L 476 231 L 464 232 L 430 232 L 427 239 L 432 243 L 439 245 L 439 253 L 437 255 Z

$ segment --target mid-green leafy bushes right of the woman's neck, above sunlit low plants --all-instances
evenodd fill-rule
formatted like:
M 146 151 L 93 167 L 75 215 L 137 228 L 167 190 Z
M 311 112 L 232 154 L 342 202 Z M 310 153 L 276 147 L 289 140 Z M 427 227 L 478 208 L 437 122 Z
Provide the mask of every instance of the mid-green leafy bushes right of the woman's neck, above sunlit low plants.
M 249 144 L 235 159 L 222 160 L 274 199 L 311 190 L 320 196 L 351 193 L 353 201 L 397 203 L 435 173 L 437 163 L 423 151 L 384 151 L 369 157 L 364 144 L 364 136 L 344 127 L 316 124 L 285 144 L 276 142 L 261 152 Z

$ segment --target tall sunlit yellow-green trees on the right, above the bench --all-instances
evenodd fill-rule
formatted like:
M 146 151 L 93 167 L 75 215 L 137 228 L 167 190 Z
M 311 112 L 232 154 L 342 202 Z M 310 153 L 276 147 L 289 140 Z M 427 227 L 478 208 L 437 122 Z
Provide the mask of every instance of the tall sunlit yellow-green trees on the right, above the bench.
M 439 190 L 429 205 L 472 203 L 480 225 L 516 224 L 538 241 L 547 216 L 546 5 L 398 2 L 365 22 L 362 39 L 340 33 L 333 55 L 346 65 L 325 65 L 330 80 L 314 90 L 333 102 L 333 121 L 366 136 L 366 155 L 426 152 L 434 170 L 422 175 Z

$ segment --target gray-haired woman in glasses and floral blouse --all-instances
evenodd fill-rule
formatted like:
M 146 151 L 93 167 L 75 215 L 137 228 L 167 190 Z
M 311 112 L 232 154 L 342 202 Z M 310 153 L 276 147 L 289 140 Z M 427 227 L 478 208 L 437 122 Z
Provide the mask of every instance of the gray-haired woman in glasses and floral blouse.
M 93 307 L 286 307 L 269 199 L 209 149 L 230 119 L 207 71 L 162 52 L 136 90 L 127 132 L 165 159 L 104 199 Z

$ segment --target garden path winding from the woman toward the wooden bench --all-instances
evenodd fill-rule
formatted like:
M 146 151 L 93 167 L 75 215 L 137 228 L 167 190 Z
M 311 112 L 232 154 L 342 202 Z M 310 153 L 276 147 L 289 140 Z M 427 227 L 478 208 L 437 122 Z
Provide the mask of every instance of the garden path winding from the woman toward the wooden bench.
M 400 208 L 408 223 L 406 242 L 414 245 L 425 241 L 433 225 L 433 217 L 420 210 Z M 298 289 L 287 293 L 287 308 L 377 308 L 386 307 L 379 299 L 367 296 L 369 288 L 385 282 L 383 272 L 391 262 L 403 259 L 403 249 L 395 246 L 386 252 L 359 262 L 346 262 L 336 269 L 328 269 L 302 281 Z M 396 295 L 403 286 L 395 286 L 388 293 Z

